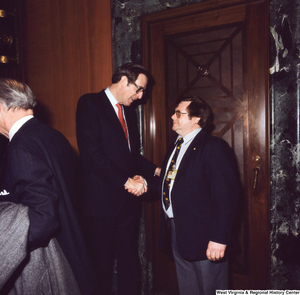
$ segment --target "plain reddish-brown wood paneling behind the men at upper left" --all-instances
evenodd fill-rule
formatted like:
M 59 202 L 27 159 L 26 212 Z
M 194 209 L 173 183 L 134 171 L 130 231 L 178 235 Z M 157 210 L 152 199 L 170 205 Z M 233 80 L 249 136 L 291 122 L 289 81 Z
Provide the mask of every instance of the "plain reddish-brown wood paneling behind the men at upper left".
M 27 0 L 28 84 L 37 116 L 77 149 L 79 97 L 111 84 L 110 0 Z

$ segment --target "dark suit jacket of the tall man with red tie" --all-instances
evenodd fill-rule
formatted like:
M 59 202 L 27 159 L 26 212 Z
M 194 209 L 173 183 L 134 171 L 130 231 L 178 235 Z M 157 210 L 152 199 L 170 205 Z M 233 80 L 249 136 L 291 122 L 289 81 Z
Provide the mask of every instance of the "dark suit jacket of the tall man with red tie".
M 115 216 L 124 201 L 139 198 L 124 189 L 128 177 L 153 177 L 156 166 L 140 155 L 135 110 L 124 107 L 131 151 L 104 90 L 83 95 L 77 105 L 77 142 L 83 165 L 84 213 Z

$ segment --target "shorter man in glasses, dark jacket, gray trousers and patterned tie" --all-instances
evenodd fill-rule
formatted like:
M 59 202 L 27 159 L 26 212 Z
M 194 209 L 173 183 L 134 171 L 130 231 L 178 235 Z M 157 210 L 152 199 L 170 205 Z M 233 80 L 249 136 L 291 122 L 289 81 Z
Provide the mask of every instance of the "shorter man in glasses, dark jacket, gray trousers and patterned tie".
M 180 99 L 172 115 L 178 137 L 162 166 L 161 242 L 170 228 L 180 295 L 228 289 L 224 255 L 239 182 L 232 150 L 206 131 L 210 118 L 201 99 Z

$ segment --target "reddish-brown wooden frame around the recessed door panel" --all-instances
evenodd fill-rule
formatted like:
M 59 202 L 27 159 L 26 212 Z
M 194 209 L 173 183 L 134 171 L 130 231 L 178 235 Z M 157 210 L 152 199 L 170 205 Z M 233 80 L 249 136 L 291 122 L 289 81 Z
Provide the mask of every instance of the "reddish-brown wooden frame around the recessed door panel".
M 143 65 L 153 74 L 155 85 L 151 97 L 144 106 L 145 156 L 157 165 L 162 165 L 167 149 L 166 107 L 164 72 L 164 36 L 177 32 L 199 29 L 199 22 L 217 26 L 222 20 L 232 23 L 230 13 L 235 11 L 234 22 L 247 22 L 247 91 L 249 97 L 248 133 L 248 208 L 249 224 L 249 273 L 234 275 L 236 289 L 266 289 L 270 286 L 270 147 L 269 147 L 269 18 L 268 0 L 209 0 L 181 8 L 153 13 L 142 17 Z M 228 15 L 228 17 L 227 17 Z M 180 18 L 180 23 L 178 19 Z M 177 20 L 177 21 L 176 21 Z M 184 28 L 182 28 L 184 23 Z M 159 50 L 158 50 L 159 48 Z M 152 59 L 155 54 L 156 60 Z M 160 62 L 159 62 L 160 61 Z M 254 167 L 259 166 L 259 181 L 256 190 Z M 160 202 L 146 207 L 147 257 L 153 263 L 154 279 L 161 275 L 157 260 Z M 172 264 L 172 262 L 170 262 Z M 168 263 L 165 268 L 171 267 Z M 164 272 L 163 272 L 164 273 Z M 174 279 L 170 274 L 170 280 Z M 175 275 L 176 276 L 176 275 Z M 158 285 L 159 282 L 158 282 Z M 170 283 L 171 285 L 171 283 Z

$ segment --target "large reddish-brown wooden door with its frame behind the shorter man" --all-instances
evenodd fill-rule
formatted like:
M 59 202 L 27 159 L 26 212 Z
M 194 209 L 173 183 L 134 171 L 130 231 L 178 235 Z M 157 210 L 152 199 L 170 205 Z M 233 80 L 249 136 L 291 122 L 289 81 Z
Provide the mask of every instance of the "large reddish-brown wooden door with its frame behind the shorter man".
M 269 285 L 268 3 L 210 0 L 143 18 L 144 65 L 155 80 L 144 108 L 145 153 L 161 165 L 173 142 L 170 107 L 197 95 L 214 112 L 215 136 L 235 151 L 243 194 L 230 288 Z M 255 188 L 254 188 L 255 186 Z M 146 209 L 157 292 L 178 294 L 175 265 L 158 247 L 160 202 Z

